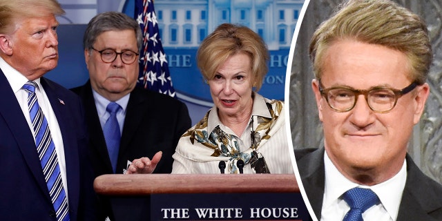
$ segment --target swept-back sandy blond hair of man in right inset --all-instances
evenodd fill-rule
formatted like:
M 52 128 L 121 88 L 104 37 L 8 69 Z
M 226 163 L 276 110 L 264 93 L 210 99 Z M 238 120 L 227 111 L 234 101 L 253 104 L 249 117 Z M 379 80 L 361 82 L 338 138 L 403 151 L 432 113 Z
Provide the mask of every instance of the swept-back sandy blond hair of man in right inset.
M 403 52 L 409 61 L 407 77 L 425 83 L 432 62 L 432 48 L 424 21 L 389 0 L 349 0 L 324 21 L 310 41 L 310 58 L 317 79 L 322 76 L 324 55 L 335 41 L 355 39 Z

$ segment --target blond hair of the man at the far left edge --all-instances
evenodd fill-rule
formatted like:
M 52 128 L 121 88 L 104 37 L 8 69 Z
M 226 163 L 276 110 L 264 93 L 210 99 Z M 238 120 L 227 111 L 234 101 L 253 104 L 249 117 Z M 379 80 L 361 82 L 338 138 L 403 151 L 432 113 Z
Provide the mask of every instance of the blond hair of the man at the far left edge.
M 64 15 L 56 0 L 0 0 L 0 33 L 11 34 L 22 18 Z

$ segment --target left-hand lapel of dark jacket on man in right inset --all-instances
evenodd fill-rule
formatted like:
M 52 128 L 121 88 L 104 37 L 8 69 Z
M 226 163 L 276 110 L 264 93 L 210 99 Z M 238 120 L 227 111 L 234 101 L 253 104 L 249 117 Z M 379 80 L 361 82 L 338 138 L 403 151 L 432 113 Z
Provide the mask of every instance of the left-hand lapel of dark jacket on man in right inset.
M 324 148 L 307 153 L 296 164 L 311 208 L 320 220 L 325 188 Z

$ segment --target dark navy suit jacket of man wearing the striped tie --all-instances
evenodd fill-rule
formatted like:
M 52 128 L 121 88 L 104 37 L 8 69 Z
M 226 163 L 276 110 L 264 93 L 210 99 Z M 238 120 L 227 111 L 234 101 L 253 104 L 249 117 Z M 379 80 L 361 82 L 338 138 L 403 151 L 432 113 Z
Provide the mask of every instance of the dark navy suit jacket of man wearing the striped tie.
M 63 137 L 70 219 L 95 220 L 93 173 L 80 99 L 43 77 L 41 85 Z M 0 95 L 0 220 L 56 220 L 32 132 L 1 70 Z

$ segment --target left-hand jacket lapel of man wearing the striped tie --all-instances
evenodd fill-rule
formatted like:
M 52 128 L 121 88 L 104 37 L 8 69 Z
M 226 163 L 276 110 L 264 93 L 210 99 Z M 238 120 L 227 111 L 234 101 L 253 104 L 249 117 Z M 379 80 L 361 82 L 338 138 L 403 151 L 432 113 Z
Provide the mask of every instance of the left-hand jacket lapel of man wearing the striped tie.
M 43 171 L 41 170 L 41 164 L 39 156 L 37 154 L 37 146 L 35 146 L 34 136 L 30 131 L 28 122 L 23 116 L 19 102 L 15 94 L 12 92 L 12 88 L 9 85 L 8 79 L 6 79 L 3 71 L 0 70 L 0 115 L 8 124 L 12 135 L 15 136 L 17 146 L 23 155 L 24 162 L 28 165 L 28 168 L 34 176 L 37 184 L 40 186 L 46 198 L 50 200 L 48 194 L 48 187 L 44 180 Z

